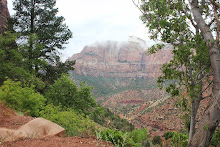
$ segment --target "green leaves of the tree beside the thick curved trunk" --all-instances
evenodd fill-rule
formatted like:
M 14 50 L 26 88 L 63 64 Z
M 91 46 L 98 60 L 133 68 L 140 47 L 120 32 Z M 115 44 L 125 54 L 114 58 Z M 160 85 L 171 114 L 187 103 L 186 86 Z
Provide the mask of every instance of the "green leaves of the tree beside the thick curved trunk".
M 158 86 L 160 88 L 166 87 L 166 92 L 172 96 L 180 96 L 181 93 L 185 92 L 187 95 L 181 97 L 180 106 L 185 111 L 192 109 L 189 112 L 192 112 L 192 118 L 196 118 L 194 112 L 197 112 L 197 105 L 199 106 L 203 99 L 204 87 L 207 84 L 210 86 L 212 83 L 212 69 L 208 43 L 203 37 L 201 28 L 197 25 L 198 22 L 195 23 L 196 20 L 192 16 L 191 8 L 193 6 L 190 6 L 192 3 L 182 0 L 149 0 L 142 1 L 140 9 L 143 11 L 141 19 L 149 28 L 151 38 L 171 44 L 174 47 L 173 59 L 161 68 L 162 75 L 158 77 Z M 212 11 L 209 10 L 211 8 L 209 1 L 195 1 L 195 3 L 198 3 L 205 21 L 208 22 L 213 19 L 210 18 L 213 17 L 213 14 L 210 14 Z M 214 26 L 216 27 L 213 25 L 210 29 L 213 31 L 212 34 L 215 34 Z M 155 53 L 162 48 L 163 45 L 155 45 L 149 52 Z M 172 82 L 167 83 L 167 81 Z M 190 102 L 187 103 L 187 98 L 192 104 L 190 109 L 187 108 L 190 105 Z M 191 119 L 191 121 L 191 124 L 196 123 L 195 119 Z M 190 128 L 192 136 L 194 129 L 195 126 Z

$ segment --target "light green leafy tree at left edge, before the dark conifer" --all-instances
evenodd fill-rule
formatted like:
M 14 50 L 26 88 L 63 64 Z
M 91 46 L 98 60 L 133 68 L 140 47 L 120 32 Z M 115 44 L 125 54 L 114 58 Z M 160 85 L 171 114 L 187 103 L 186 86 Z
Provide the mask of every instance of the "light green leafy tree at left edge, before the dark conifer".
M 15 43 L 16 37 L 10 32 L 0 34 L 0 85 L 10 78 L 21 81 L 23 85 L 35 85 L 36 89 L 41 90 L 44 83 L 26 69 L 24 58 Z

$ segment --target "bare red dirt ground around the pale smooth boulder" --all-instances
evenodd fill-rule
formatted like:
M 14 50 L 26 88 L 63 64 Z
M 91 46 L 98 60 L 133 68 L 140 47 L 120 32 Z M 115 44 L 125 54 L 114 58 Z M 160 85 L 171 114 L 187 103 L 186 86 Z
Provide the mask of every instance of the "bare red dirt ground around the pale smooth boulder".
M 9 107 L 0 103 L 0 128 L 18 129 L 34 118 L 20 116 Z M 1 142 L 0 147 L 97 147 L 113 146 L 112 144 L 97 140 L 95 137 L 45 137 L 41 139 L 21 139 L 13 142 Z

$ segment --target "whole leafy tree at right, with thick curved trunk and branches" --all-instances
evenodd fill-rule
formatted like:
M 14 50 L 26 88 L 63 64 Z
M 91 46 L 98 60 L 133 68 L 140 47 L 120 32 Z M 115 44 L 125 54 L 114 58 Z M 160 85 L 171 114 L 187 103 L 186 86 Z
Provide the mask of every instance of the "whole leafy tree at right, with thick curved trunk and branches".
M 134 0 L 133 0 L 134 2 Z M 135 2 L 134 2 L 135 3 Z M 173 46 L 177 47 L 177 52 L 179 57 L 182 56 L 182 61 L 188 63 L 188 72 L 190 80 L 185 78 L 184 81 L 188 81 L 190 84 L 188 91 L 192 100 L 192 109 L 191 114 L 196 114 L 197 104 L 195 101 L 200 101 L 201 98 L 201 89 L 203 87 L 202 80 L 203 77 L 206 77 L 206 72 L 209 73 L 207 67 L 208 64 L 201 64 L 201 61 L 195 60 L 196 67 L 199 67 L 195 70 L 195 67 L 192 66 L 193 56 L 192 53 L 185 54 L 181 50 L 187 52 L 195 49 L 197 58 L 206 58 L 204 54 L 208 53 L 210 58 L 210 63 L 213 73 L 213 91 L 212 91 L 212 101 L 210 102 L 210 107 L 206 110 L 205 115 L 199 123 L 199 128 L 196 134 L 193 136 L 193 131 L 190 131 L 190 146 L 208 146 L 214 133 L 216 126 L 219 124 L 220 120 L 220 62 L 219 62 L 219 3 L 213 0 L 141 0 L 138 5 L 135 3 L 139 9 L 142 11 L 142 20 L 149 28 L 150 33 L 152 34 L 152 39 L 159 39 L 163 42 L 170 43 Z M 198 41 L 201 40 L 201 41 Z M 195 44 L 194 46 L 190 44 Z M 202 45 L 205 44 L 205 45 Z M 202 46 L 201 46 L 202 45 Z M 198 47 L 197 47 L 198 46 Z M 161 46 L 159 46 L 161 47 Z M 175 50 L 174 50 L 175 51 Z M 175 52 L 174 52 L 175 53 Z M 202 56 L 199 54 L 203 54 Z M 186 56 L 185 56 L 186 55 Z M 177 56 L 178 57 L 178 56 Z M 187 57 L 187 58 L 185 58 Z M 190 58 L 189 58 L 190 57 Z M 185 59 L 185 60 L 184 60 Z M 175 59 L 174 59 L 175 60 Z M 186 62 L 187 61 L 187 62 Z M 181 62 L 180 62 L 181 63 Z M 184 64 L 185 64 L 184 63 Z M 187 64 L 186 64 L 187 65 Z M 179 68 L 179 65 L 174 64 L 174 68 Z M 171 67 L 171 66 L 170 66 Z M 184 70 L 182 70 L 184 71 Z M 172 72 L 182 72 L 181 70 L 168 70 L 170 75 L 173 75 Z M 204 72 L 206 71 L 206 72 Z M 193 74 L 196 73 L 196 74 Z M 186 75 L 185 74 L 185 75 Z M 181 75 L 181 74 L 178 74 Z M 184 74 L 182 74 L 184 75 Z M 204 76 L 205 75 L 205 76 Z M 186 77 L 186 76 L 185 76 Z M 182 80 L 184 77 L 174 77 L 175 79 Z M 169 79 L 169 76 L 168 78 Z M 197 81 L 199 79 L 199 82 Z M 198 84 L 198 85 L 197 85 Z M 176 85 L 173 85 L 168 90 L 172 90 L 174 94 L 179 90 L 176 89 Z M 193 92 L 195 89 L 200 89 L 199 93 Z M 205 90 L 204 88 L 203 90 Z M 203 91 L 202 90 L 202 91 Z M 196 90 L 197 91 L 197 90 Z M 200 95 L 199 95 L 200 94 Z M 198 103 L 199 104 L 199 103 Z M 191 115 L 191 120 L 194 119 Z M 202 129 L 203 126 L 209 124 L 209 129 Z M 194 123 L 191 123 L 194 125 Z M 193 128 L 193 126 L 192 126 Z M 201 135 L 203 134 L 203 135 Z M 193 137 L 193 138 L 192 138 Z M 199 141 L 198 141 L 199 140 Z

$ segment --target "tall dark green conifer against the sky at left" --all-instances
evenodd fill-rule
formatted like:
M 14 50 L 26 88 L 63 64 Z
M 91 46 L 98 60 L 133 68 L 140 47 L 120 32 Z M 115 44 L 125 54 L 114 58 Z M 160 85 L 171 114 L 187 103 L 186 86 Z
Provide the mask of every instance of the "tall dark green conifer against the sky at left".
M 59 67 L 59 50 L 64 49 L 63 45 L 72 37 L 71 31 L 64 24 L 64 17 L 56 16 L 58 9 L 54 8 L 55 4 L 56 0 L 13 2 L 15 15 L 9 22 L 13 23 L 14 30 L 20 34 L 18 44 L 25 46 L 20 50 L 32 73 L 45 75 L 46 69 L 50 68 L 48 66 Z

